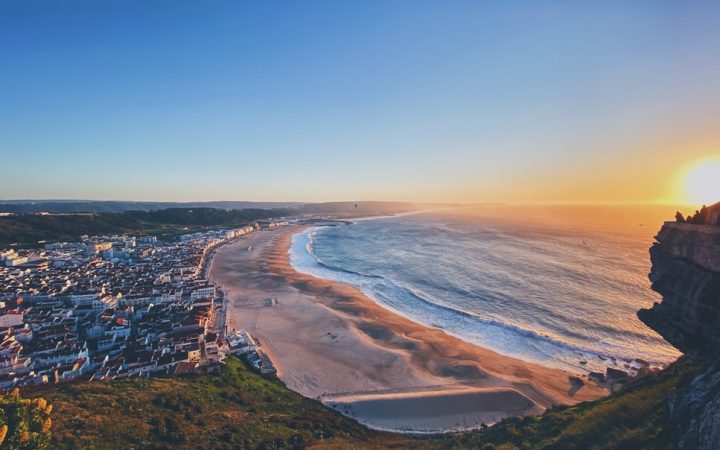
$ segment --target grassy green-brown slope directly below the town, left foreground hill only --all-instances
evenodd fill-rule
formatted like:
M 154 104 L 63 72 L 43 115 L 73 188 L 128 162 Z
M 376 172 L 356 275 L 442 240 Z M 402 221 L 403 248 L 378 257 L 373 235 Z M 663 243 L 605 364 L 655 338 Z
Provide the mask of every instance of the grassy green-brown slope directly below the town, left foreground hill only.
M 68 383 L 38 395 L 55 404 L 54 448 L 347 448 L 410 442 L 372 432 L 234 357 L 218 374 Z

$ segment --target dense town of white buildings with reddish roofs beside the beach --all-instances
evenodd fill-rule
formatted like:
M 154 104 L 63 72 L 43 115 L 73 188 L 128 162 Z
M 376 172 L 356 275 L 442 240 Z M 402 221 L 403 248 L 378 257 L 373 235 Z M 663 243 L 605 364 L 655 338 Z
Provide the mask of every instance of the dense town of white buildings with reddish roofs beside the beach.
M 227 299 L 206 275 L 218 246 L 287 224 L 0 252 L 0 389 L 211 371 L 230 354 L 273 373 L 252 336 L 228 333 Z

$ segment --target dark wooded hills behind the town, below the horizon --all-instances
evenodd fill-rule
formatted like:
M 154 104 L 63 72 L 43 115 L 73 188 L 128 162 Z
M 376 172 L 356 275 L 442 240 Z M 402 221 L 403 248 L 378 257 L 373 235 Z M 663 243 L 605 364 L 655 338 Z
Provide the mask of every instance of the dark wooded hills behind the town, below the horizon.
M 208 228 L 239 227 L 288 215 L 283 209 L 169 208 L 124 213 L 18 215 L 0 217 L 0 248 L 36 246 L 38 241 L 76 241 L 84 234 L 154 234 L 170 238 Z

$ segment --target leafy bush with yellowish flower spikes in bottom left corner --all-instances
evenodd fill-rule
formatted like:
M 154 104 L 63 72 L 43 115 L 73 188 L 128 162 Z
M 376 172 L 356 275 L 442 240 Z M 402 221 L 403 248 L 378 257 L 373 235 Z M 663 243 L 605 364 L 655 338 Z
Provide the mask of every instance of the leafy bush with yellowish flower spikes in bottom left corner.
M 51 411 L 45 399 L 23 399 L 18 389 L 0 394 L 0 449 L 46 448 Z

